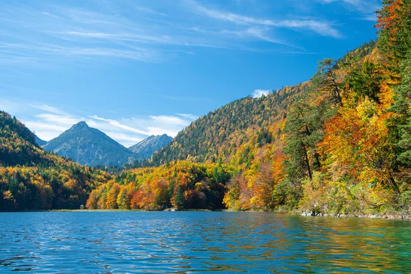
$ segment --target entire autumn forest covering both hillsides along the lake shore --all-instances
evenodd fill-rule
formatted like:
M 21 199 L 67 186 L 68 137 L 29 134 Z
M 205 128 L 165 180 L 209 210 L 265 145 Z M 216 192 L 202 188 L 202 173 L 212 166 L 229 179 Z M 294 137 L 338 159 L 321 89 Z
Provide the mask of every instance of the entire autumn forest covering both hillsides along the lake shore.
M 109 174 L 45 153 L 1 115 L 0 208 L 411 215 L 411 1 L 308 82 L 202 116 L 148 167 Z M 86 201 L 87 200 L 87 201 Z

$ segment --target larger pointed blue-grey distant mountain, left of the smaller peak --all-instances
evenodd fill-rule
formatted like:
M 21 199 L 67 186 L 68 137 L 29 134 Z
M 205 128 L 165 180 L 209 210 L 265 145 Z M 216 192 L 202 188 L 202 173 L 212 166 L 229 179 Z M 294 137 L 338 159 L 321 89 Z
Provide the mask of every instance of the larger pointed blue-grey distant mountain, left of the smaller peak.
M 118 142 L 89 127 L 86 122 L 79 122 L 57 138 L 43 146 L 47 151 L 71 158 L 79 164 L 96 166 L 123 165 L 137 158 L 137 155 Z

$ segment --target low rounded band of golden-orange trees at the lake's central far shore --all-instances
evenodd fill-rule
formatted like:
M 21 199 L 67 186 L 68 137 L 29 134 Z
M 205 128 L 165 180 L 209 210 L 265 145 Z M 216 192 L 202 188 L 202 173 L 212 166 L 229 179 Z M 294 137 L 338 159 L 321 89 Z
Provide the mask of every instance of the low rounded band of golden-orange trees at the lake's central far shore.
M 127 171 L 93 190 L 90 209 L 224 208 L 229 170 L 222 164 L 172 162 L 156 168 Z

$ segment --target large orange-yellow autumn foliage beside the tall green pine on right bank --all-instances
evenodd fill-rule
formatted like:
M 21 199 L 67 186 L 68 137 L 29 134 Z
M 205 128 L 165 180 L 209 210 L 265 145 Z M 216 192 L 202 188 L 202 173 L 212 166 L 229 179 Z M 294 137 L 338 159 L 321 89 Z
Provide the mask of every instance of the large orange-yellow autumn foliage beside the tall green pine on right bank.
M 319 148 L 335 181 L 349 177 L 353 184 L 362 184 L 370 195 L 360 198 L 380 206 L 399 192 L 393 166 L 395 153 L 386 124 L 388 114 L 382 114 L 377 103 L 368 98 L 354 107 L 348 105 L 327 121 Z

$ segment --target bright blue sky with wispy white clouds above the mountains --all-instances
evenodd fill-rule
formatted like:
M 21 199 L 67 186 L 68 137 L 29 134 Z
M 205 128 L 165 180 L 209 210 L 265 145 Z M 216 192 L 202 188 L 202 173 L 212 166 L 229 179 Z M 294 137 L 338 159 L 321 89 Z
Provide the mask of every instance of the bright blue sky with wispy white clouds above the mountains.
M 376 38 L 379 0 L 0 1 L 0 110 L 129 147 L 304 82 Z

